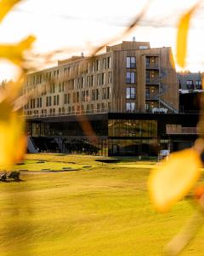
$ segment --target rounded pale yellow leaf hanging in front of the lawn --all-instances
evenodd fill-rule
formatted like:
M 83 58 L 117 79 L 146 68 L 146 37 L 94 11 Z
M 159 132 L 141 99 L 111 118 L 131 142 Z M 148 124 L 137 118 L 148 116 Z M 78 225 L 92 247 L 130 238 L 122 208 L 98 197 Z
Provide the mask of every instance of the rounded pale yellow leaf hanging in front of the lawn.
M 150 173 L 150 198 L 159 212 L 169 208 L 186 195 L 201 174 L 201 158 L 195 148 L 170 154 Z

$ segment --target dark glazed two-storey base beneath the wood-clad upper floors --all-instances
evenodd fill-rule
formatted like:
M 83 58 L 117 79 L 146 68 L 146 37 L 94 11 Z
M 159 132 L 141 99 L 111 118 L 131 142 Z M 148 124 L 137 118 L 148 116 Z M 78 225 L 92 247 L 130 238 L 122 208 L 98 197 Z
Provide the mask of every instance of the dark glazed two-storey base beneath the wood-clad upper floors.
M 27 134 L 40 152 L 145 158 L 192 146 L 196 123 L 195 114 L 108 113 L 30 120 Z

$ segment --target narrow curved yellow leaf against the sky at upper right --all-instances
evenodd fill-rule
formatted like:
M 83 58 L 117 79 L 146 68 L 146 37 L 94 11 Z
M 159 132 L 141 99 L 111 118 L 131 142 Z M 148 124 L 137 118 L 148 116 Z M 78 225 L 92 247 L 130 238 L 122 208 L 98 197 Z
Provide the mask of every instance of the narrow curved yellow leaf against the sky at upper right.
M 187 51 L 187 37 L 190 26 L 190 18 L 198 7 L 198 3 L 195 4 L 186 14 L 184 14 L 178 22 L 178 33 L 177 33 L 177 63 L 180 67 L 185 66 L 185 58 Z

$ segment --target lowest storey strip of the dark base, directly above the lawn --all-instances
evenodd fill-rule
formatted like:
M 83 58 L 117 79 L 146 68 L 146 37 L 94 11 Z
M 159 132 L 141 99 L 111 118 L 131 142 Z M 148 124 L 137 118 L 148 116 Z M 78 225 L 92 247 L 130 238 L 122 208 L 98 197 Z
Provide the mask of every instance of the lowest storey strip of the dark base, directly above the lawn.
M 193 138 L 116 138 L 116 137 L 32 137 L 39 152 L 93 154 L 103 156 L 156 157 L 161 149 L 189 148 Z

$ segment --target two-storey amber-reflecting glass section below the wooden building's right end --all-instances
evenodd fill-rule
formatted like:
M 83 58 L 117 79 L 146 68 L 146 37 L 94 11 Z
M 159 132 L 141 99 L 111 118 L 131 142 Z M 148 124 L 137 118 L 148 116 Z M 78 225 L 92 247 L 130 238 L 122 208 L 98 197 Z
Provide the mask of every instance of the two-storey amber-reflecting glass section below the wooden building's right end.
M 109 155 L 156 156 L 157 121 L 110 119 Z

